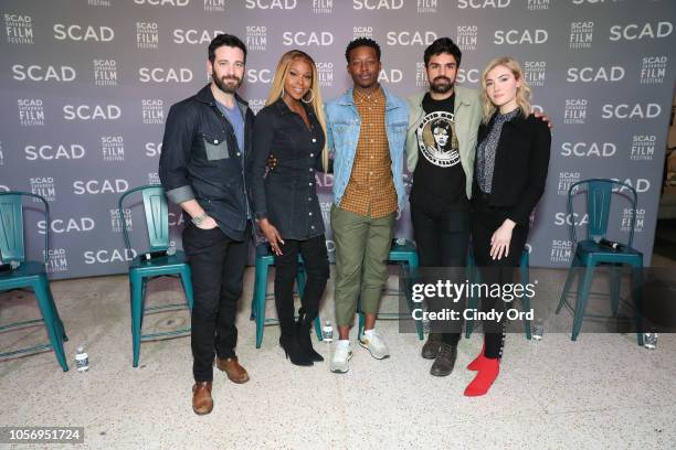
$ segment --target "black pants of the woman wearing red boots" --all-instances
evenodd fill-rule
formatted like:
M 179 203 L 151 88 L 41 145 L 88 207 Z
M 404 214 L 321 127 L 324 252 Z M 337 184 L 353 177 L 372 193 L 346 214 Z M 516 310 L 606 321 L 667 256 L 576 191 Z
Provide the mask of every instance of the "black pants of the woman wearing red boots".
M 482 283 L 500 285 L 514 282 L 514 270 L 519 266 L 521 253 L 528 238 L 529 224 L 518 224 L 511 232 L 509 256 L 500 259 L 490 257 L 490 237 L 507 218 L 507 212 L 488 206 L 488 197 L 484 194 L 473 196 L 472 202 L 472 249 L 476 265 L 479 268 Z M 483 297 L 482 311 L 505 311 L 505 301 L 500 298 Z M 505 344 L 505 320 L 484 321 L 484 342 L 486 357 L 497 358 L 503 355 Z

